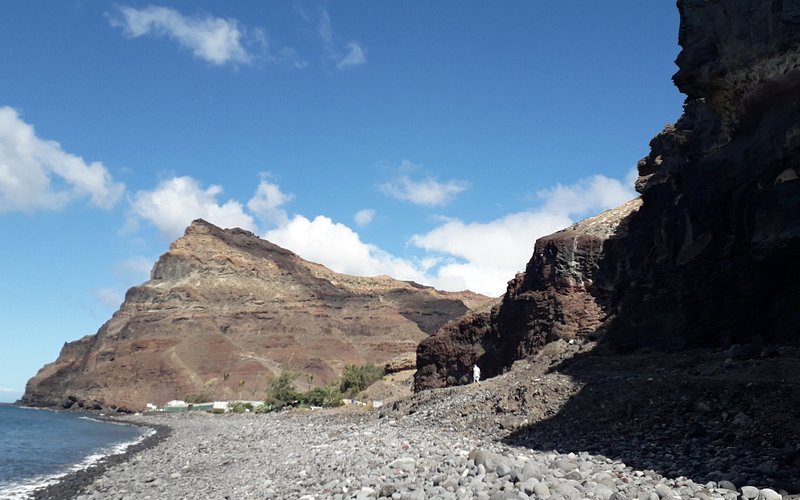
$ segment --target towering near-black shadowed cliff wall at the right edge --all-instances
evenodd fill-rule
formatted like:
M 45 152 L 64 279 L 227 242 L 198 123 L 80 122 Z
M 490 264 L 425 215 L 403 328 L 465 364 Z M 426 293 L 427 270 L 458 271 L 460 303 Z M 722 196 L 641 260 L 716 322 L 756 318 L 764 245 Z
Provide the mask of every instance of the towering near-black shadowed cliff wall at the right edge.
M 798 338 L 800 2 L 678 2 L 683 116 L 639 163 L 608 253 L 617 349 Z

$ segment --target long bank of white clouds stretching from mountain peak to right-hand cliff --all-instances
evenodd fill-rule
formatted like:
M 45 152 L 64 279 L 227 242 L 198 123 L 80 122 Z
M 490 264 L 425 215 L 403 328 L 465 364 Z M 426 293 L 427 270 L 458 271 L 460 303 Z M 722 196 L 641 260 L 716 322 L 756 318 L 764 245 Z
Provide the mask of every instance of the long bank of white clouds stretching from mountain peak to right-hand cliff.
M 223 227 L 255 230 L 254 218 L 275 227 L 264 237 L 304 259 L 358 276 L 387 274 L 445 290 L 473 290 L 490 296 L 524 270 L 537 238 L 563 229 L 578 218 L 618 206 L 636 196 L 622 181 L 596 175 L 572 185 L 556 185 L 536 193 L 536 208 L 507 214 L 489 222 L 444 220 L 438 227 L 413 236 L 409 244 L 420 257 L 392 255 L 363 241 L 351 227 L 319 215 L 289 217 L 284 204 L 291 195 L 261 180 L 246 208 L 230 200 L 220 204 L 218 186 L 202 188 L 194 179 L 177 177 L 155 190 L 137 193 L 135 213 L 170 236 L 203 217 Z M 246 209 L 248 211 L 246 211 Z M 372 209 L 359 211 L 357 224 L 368 223 Z

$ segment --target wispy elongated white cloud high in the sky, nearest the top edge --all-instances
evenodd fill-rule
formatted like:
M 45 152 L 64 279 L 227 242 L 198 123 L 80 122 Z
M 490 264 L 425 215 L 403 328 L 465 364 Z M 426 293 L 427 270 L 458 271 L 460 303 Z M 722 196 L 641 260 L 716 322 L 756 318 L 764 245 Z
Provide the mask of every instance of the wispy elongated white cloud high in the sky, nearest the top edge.
M 122 28 L 128 36 L 145 35 L 169 37 L 192 54 L 215 65 L 226 63 L 249 64 L 254 55 L 245 43 L 266 46 L 260 30 L 246 33 L 236 19 L 222 19 L 211 15 L 184 16 L 167 7 L 150 5 L 143 9 L 118 7 L 120 17 L 111 17 L 113 26 Z

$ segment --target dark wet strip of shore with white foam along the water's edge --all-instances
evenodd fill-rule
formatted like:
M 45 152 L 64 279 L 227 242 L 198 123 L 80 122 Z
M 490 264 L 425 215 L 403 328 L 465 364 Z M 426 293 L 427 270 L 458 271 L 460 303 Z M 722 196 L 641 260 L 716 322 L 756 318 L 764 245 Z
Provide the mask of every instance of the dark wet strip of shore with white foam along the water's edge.
M 49 408 L 39 409 L 51 411 Z M 138 443 L 128 446 L 122 453 L 106 455 L 86 468 L 68 472 L 63 477 L 56 479 L 56 482 L 53 484 L 48 484 L 34 489 L 28 498 L 33 500 L 65 500 L 76 498 L 90 484 L 92 484 L 92 482 L 102 476 L 109 468 L 128 462 L 131 458 L 133 458 L 134 455 L 158 446 L 172 434 L 172 428 L 166 425 L 132 422 L 121 417 L 92 415 L 91 412 L 88 414 L 91 415 L 91 418 L 95 420 L 115 424 L 133 425 L 143 429 L 151 429 L 153 433 L 149 436 L 146 436 Z

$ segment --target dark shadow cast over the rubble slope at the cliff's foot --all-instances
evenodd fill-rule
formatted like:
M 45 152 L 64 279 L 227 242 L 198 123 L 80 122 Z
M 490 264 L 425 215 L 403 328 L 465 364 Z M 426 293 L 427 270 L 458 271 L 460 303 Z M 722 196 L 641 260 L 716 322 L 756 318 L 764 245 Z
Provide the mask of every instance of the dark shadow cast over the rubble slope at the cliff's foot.
M 587 451 L 636 470 L 800 493 L 800 360 L 724 353 L 580 353 L 551 371 L 580 382 L 552 418 L 504 441 Z

